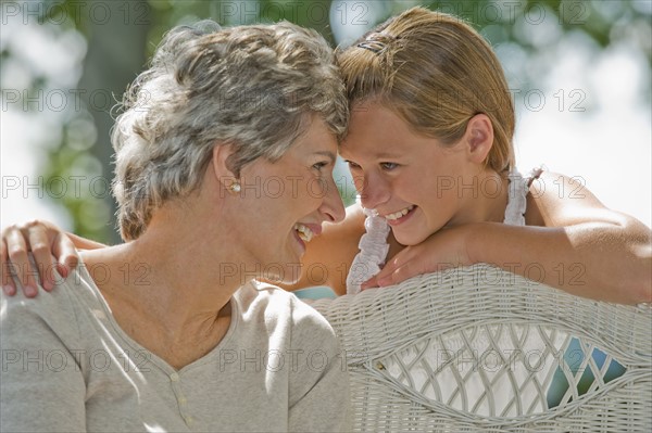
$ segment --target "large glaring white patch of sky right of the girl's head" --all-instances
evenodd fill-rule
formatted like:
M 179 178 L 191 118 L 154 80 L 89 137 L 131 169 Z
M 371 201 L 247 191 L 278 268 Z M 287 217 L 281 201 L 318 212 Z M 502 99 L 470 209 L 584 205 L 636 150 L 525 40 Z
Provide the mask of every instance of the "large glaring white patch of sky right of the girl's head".
M 525 170 L 546 164 L 552 171 L 581 177 L 607 207 L 651 227 L 652 113 L 650 101 L 640 101 L 638 92 L 650 81 L 647 60 L 627 47 L 607 51 L 595 63 L 580 64 L 578 58 L 574 50 L 560 56 L 542 91 L 547 103 L 541 111 L 522 107 L 515 137 L 518 165 Z M 562 97 L 564 111 L 559 109 Z M 573 103 L 587 113 L 569 111 Z

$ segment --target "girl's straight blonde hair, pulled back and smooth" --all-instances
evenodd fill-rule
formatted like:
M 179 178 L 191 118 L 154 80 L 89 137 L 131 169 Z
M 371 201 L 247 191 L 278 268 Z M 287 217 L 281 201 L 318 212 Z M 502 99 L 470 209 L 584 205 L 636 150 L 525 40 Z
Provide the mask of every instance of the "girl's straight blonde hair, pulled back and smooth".
M 351 110 L 380 102 L 444 145 L 484 113 L 494 133 L 485 164 L 498 173 L 514 166 L 514 104 L 503 69 L 489 43 L 460 18 L 413 8 L 338 50 L 337 58 Z

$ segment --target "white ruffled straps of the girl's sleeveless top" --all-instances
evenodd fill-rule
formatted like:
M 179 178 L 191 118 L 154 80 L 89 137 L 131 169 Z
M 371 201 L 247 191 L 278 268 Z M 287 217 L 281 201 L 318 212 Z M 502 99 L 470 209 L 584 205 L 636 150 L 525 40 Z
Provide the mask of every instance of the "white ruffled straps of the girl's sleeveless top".
M 507 175 L 510 180 L 507 207 L 505 208 L 505 219 L 503 224 L 510 226 L 525 226 L 525 208 L 527 205 L 527 193 L 534 179 L 541 175 L 541 168 L 535 168 L 529 176 L 523 177 L 518 170 L 514 169 Z M 360 198 L 358 199 L 360 203 Z M 364 228 L 366 232 L 360 238 L 360 253 L 353 259 L 351 269 L 347 277 L 347 294 L 360 292 L 360 284 L 380 271 L 385 264 L 389 244 L 387 235 L 390 227 L 385 217 L 379 216 L 374 209 L 363 207 L 366 215 Z

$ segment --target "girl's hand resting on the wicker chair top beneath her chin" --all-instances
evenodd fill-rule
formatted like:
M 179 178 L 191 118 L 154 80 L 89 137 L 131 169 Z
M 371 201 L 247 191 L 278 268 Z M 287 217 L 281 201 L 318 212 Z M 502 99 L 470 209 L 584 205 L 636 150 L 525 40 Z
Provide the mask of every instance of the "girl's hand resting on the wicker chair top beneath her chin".
M 473 265 L 467 242 L 472 228 L 473 225 L 443 228 L 422 243 L 406 246 L 361 289 L 393 285 L 417 275 Z

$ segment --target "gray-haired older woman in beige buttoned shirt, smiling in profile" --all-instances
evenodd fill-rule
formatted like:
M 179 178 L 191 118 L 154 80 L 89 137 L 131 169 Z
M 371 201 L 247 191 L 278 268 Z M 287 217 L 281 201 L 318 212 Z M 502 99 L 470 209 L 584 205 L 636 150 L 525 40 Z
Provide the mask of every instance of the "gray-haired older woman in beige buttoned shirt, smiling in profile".
M 253 281 L 293 282 L 322 222 L 343 218 L 327 43 L 288 23 L 175 28 L 125 109 L 128 242 L 82 253 L 34 302 L 2 297 L 0 430 L 347 430 L 331 328 Z

